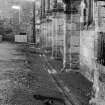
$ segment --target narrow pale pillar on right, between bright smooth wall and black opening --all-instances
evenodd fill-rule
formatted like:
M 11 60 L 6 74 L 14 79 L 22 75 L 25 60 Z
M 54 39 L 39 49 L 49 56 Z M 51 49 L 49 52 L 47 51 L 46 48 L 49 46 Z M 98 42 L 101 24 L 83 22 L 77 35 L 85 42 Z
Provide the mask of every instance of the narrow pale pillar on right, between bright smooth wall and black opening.
M 91 15 L 91 18 L 93 18 L 93 16 L 94 16 L 94 14 L 95 14 L 95 19 L 92 19 L 91 21 L 93 21 L 93 20 L 95 20 L 95 48 L 94 48 L 94 50 L 95 50 L 95 54 L 94 54 L 94 56 L 95 56 L 95 58 L 97 58 L 97 51 L 98 51 L 98 32 L 99 32 L 99 29 L 98 29 L 98 21 L 97 21 L 97 19 L 98 19 L 98 8 L 97 8 L 97 5 L 96 5 L 96 2 L 94 2 L 94 0 L 92 0 L 92 6 L 94 7 L 94 12 L 95 13 L 93 13 L 92 12 L 92 15 Z M 94 5 L 93 5 L 94 4 Z M 93 9 L 93 8 L 92 8 Z M 91 11 L 93 11 L 93 10 L 91 10 Z M 94 68 L 95 68 L 95 70 L 94 70 L 94 79 L 93 79 L 93 90 L 95 90 L 95 94 L 94 94 L 94 98 L 98 98 L 98 96 L 99 96 L 99 69 L 100 69 L 100 65 L 98 64 L 98 62 L 97 62 L 97 60 L 95 59 L 95 64 L 94 64 Z

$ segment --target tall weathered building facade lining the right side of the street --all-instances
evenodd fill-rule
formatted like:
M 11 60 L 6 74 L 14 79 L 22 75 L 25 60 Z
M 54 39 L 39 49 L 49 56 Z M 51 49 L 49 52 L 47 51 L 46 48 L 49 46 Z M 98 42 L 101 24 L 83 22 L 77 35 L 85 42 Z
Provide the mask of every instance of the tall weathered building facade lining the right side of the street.
M 50 43 L 45 45 L 51 45 L 52 48 L 56 48 L 59 47 L 58 43 L 61 40 L 62 47 L 60 47 L 60 51 L 63 55 L 63 70 L 80 71 L 93 83 L 93 90 L 95 91 L 94 97 L 100 97 L 104 94 L 102 90 L 102 88 L 104 88 L 104 86 L 102 86 L 104 84 L 102 82 L 102 71 L 104 71 L 104 44 L 102 44 L 102 42 L 104 42 L 104 19 L 99 16 L 99 13 L 102 12 L 100 7 L 104 12 L 104 6 L 100 6 L 100 1 L 94 0 L 72 2 L 63 0 L 63 2 L 65 8 L 64 12 L 61 13 L 62 15 L 54 11 L 52 15 L 49 16 L 52 20 L 51 23 L 43 25 L 44 27 L 52 26 L 50 32 L 48 30 L 42 31 L 43 36 L 45 36 L 44 39 L 47 38 L 45 43 Z M 54 8 L 55 7 L 56 5 Z M 59 27 L 59 19 L 57 15 L 62 20 L 62 22 L 60 22 L 63 24 L 63 30 L 61 29 L 62 35 L 61 33 L 58 35 L 57 29 L 59 28 L 57 27 Z M 56 30 L 54 30 L 54 28 Z M 46 35 L 49 35 L 50 38 Z M 99 78 L 101 78 L 101 81 Z

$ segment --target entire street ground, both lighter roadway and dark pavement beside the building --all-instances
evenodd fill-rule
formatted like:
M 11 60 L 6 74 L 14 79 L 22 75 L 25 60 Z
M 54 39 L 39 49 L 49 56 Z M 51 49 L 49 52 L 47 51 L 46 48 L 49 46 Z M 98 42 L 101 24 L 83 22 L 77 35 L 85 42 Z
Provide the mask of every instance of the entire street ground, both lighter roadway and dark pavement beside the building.
M 50 98 L 54 105 L 88 103 L 91 83 L 82 75 L 54 73 L 49 64 L 53 62 L 54 66 L 57 62 L 48 60 L 48 63 L 40 53 L 29 53 L 27 44 L 3 42 L 0 48 L 1 105 L 44 105 Z M 75 81 L 74 76 L 77 77 Z M 37 95 L 40 95 L 38 100 Z

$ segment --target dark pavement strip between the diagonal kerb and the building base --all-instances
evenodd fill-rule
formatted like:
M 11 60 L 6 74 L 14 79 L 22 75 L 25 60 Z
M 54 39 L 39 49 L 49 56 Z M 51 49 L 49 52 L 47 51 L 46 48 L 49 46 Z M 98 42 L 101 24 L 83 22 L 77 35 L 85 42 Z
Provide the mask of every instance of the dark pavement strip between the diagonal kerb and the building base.
M 51 59 L 48 56 L 47 60 L 52 68 L 57 71 L 55 75 L 64 83 L 64 88 L 72 95 L 74 102 L 79 101 L 79 105 L 89 105 L 92 95 L 92 83 L 80 73 L 80 69 L 71 69 L 69 72 L 64 70 L 61 72 L 63 68 L 61 60 Z

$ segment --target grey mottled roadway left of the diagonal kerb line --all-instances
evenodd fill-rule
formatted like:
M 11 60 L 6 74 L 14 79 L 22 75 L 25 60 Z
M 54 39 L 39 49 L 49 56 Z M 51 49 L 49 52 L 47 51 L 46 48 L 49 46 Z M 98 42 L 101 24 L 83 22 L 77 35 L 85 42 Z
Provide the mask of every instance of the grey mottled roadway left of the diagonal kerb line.
M 0 105 L 47 105 L 62 99 L 39 55 L 24 53 L 21 45 L 0 43 Z M 41 94 L 40 98 L 35 95 Z M 46 103 L 46 104 L 45 104 Z M 54 105 L 64 105 L 55 100 Z

